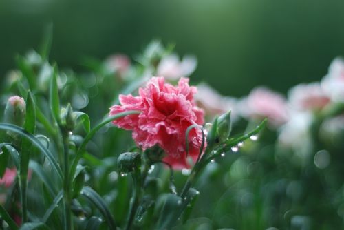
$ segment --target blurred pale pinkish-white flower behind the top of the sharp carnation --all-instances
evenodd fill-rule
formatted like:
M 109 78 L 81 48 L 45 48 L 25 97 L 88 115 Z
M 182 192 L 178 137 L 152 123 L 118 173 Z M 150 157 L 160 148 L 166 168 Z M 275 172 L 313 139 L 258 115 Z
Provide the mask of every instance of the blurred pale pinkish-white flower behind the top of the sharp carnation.
M 166 79 L 178 80 L 182 76 L 191 75 L 197 67 L 194 56 L 184 56 L 182 61 L 176 54 L 164 56 L 157 67 L 157 75 Z

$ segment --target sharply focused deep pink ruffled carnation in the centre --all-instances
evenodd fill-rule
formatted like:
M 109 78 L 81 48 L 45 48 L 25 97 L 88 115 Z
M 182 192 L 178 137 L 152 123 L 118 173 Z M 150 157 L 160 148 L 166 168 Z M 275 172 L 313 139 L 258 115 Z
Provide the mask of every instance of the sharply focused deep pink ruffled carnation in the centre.
M 114 121 L 122 129 L 133 130 L 133 140 L 142 149 L 159 145 L 166 152 L 164 161 L 175 169 L 190 167 L 186 161 L 185 133 L 190 125 L 204 123 L 204 112 L 193 100 L 196 87 L 189 86 L 189 79 L 182 78 L 178 86 L 164 82 L 163 77 L 153 77 L 140 96 L 120 95 L 120 104 L 110 109 L 110 115 L 129 110 L 140 114 L 127 115 Z M 195 160 L 202 143 L 200 129 L 189 133 L 189 155 Z

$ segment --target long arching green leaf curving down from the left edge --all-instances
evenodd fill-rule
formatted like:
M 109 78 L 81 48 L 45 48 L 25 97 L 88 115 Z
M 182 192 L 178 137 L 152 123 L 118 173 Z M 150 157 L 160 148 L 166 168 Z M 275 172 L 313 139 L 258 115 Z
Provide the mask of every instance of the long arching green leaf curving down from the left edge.
M 14 132 L 16 134 L 19 134 L 31 140 L 32 144 L 36 146 L 47 157 L 47 160 L 49 160 L 50 164 L 52 165 L 52 168 L 54 169 L 54 171 L 56 171 L 59 181 L 62 182 L 62 171 L 61 171 L 61 168 L 58 166 L 56 159 L 54 158 L 52 153 L 49 151 L 49 149 L 44 147 L 44 145 L 42 145 L 42 143 L 35 136 L 33 136 L 32 134 L 29 134 L 28 132 L 25 132 L 25 130 L 22 129 L 21 127 L 8 124 L 8 123 L 0 123 L 0 129 Z

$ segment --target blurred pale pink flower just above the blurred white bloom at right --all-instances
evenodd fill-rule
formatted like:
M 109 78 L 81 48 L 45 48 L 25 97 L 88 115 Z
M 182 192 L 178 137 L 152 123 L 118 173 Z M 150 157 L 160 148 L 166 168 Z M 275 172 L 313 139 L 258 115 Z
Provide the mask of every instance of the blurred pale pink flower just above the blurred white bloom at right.
M 330 103 L 330 98 L 317 82 L 296 85 L 290 89 L 288 96 L 290 109 L 298 111 L 321 110 Z

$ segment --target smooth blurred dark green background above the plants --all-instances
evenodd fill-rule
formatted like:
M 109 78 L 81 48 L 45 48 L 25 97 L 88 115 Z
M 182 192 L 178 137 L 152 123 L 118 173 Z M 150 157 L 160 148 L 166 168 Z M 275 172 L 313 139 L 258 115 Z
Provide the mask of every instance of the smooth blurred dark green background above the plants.
M 344 1 L 0 1 L 0 76 L 37 48 L 54 23 L 50 59 L 80 70 L 82 56 L 133 57 L 151 39 L 195 54 L 194 81 L 242 96 L 317 81 L 344 55 Z

